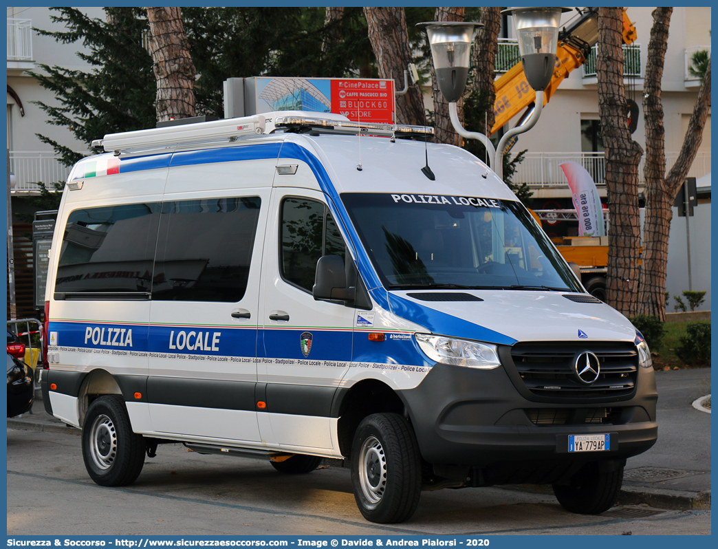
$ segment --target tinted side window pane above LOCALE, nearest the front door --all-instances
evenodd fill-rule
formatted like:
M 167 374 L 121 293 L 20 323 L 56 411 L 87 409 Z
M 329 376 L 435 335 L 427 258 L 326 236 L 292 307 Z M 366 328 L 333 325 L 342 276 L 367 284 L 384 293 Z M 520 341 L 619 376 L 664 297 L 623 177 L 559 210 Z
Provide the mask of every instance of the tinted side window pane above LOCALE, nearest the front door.
M 152 299 L 241 300 L 260 204 L 258 196 L 163 203 Z

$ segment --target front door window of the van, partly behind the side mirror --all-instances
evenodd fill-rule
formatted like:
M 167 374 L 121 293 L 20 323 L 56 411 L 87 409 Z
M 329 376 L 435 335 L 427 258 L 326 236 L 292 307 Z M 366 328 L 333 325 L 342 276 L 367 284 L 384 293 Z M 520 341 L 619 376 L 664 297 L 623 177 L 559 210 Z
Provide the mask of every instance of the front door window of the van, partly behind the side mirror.
M 315 200 L 286 198 L 281 205 L 280 272 L 307 292 L 314 286 L 317 262 L 324 255 L 346 260 L 346 244 L 329 208 Z

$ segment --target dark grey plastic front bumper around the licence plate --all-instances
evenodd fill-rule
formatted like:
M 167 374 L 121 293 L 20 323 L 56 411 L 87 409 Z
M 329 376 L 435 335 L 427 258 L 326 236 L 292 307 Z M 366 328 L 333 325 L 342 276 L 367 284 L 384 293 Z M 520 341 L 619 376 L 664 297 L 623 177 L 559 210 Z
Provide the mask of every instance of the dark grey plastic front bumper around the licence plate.
M 532 398 L 507 369 L 435 365 L 415 389 L 401 392 L 426 461 L 517 469 L 541 463 L 575 467 L 619 463 L 651 448 L 658 436 L 656 382 L 638 368 L 628 397 Z M 522 389 L 519 391 L 518 389 Z M 569 453 L 569 435 L 610 434 L 610 450 Z

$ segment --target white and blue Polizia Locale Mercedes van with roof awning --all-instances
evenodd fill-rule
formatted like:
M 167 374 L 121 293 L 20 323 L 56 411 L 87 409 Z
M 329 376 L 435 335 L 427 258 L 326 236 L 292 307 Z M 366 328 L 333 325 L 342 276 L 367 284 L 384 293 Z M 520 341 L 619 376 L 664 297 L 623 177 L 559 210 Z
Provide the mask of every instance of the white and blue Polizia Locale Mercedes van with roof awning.
M 648 346 L 432 134 L 280 112 L 106 135 L 73 167 L 41 384 L 97 484 L 184 443 L 348 460 L 372 522 L 444 487 L 615 504 L 658 433 Z

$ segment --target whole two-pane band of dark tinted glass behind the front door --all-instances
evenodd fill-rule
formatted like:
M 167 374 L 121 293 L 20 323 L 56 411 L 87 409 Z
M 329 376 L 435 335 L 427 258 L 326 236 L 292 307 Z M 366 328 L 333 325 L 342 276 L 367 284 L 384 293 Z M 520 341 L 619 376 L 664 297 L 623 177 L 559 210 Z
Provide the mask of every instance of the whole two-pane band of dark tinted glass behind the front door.
M 246 292 L 260 206 L 252 196 L 73 211 L 55 292 L 236 303 Z

